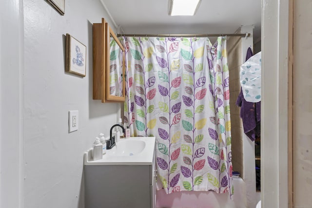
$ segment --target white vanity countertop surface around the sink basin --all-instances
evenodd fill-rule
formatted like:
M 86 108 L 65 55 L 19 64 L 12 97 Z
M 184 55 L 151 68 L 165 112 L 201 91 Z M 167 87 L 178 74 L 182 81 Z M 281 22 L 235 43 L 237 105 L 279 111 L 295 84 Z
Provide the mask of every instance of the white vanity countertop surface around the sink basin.
M 139 153 L 130 153 L 129 155 L 116 154 L 118 147 L 121 148 L 121 144 L 124 141 L 127 141 L 127 145 L 131 144 L 131 141 L 143 141 L 145 146 Z M 92 149 L 90 149 L 84 153 L 84 165 L 152 165 L 155 154 L 155 141 L 155 137 L 130 137 L 120 139 L 115 147 L 111 150 L 107 150 L 102 159 L 96 161 L 93 160 Z M 142 142 L 139 143 L 142 144 Z M 131 149 L 131 145 L 128 145 L 126 151 L 129 151 L 128 148 Z M 131 150 L 129 152 L 131 152 Z

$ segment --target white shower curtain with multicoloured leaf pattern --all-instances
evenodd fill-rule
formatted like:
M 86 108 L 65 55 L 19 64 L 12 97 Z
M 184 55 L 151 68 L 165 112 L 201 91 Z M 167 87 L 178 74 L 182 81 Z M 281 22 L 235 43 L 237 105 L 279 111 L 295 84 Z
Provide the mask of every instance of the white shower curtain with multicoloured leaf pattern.
M 226 39 L 124 37 L 124 121 L 156 137 L 157 188 L 234 192 Z

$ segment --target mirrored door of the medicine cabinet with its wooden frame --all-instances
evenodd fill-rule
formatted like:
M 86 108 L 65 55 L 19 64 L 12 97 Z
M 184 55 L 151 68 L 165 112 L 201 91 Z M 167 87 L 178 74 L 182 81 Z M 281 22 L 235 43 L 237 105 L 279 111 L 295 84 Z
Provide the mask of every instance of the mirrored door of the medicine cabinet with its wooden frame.
M 125 100 L 125 49 L 106 23 L 106 100 Z

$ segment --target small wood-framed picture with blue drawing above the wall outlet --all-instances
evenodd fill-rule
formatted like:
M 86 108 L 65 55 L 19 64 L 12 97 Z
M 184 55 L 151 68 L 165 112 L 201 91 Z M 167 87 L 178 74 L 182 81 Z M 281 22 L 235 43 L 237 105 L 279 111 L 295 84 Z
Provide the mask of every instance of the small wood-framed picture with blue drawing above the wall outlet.
M 80 76 L 86 76 L 87 47 L 76 38 L 66 34 L 65 41 L 65 71 Z

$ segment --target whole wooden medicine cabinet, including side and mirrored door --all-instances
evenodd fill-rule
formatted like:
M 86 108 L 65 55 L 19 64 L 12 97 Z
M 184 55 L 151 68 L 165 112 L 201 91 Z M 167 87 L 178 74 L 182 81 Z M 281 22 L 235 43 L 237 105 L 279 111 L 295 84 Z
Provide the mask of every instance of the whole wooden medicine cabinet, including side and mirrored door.
M 93 24 L 93 99 L 125 101 L 125 50 L 102 18 Z

